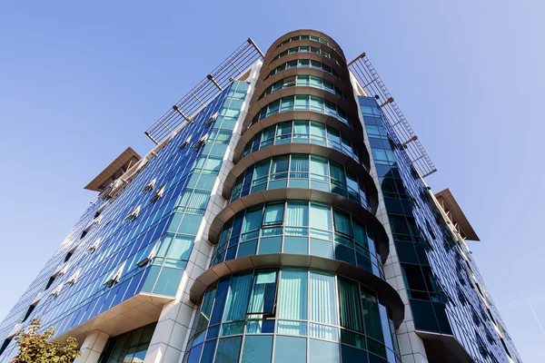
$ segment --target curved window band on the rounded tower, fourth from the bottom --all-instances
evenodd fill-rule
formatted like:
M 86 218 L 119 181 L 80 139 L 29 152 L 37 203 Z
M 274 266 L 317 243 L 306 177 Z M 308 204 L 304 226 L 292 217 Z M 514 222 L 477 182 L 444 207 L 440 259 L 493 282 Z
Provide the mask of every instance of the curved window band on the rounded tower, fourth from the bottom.
M 275 123 L 257 132 L 246 143 L 242 157 L 257 152 L 266 147 L 281 145 L 282 143 L 312 143 L 325 146 L 350 156 L 356 162 L 360 161 L 360 152 L 349 136 L 339 132 L 332 126 L 308 120 L 295 120 Z

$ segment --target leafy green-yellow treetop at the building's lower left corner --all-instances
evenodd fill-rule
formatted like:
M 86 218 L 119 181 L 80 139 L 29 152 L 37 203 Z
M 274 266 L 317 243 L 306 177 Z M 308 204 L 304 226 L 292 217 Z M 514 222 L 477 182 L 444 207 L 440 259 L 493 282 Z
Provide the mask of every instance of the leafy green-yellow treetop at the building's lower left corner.
M 12 363 L 72 363 L 81 356 L 75 338 L 67 338 L 63 343 L 51 340 L 56 328 L 51 327 L 40 333 L 40 319 L 33 319 L 28 329 L 15 334 L 19 352 Z

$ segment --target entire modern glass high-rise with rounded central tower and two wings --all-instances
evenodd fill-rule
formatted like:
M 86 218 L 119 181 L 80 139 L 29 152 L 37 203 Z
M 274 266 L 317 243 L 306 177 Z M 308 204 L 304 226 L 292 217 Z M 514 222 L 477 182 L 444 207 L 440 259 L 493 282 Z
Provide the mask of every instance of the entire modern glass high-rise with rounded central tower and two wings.
M 365 54 L 251 39 L 86 189 L 96 200 L 0 326 L 80 363 L 520 362 L 479 240 Z

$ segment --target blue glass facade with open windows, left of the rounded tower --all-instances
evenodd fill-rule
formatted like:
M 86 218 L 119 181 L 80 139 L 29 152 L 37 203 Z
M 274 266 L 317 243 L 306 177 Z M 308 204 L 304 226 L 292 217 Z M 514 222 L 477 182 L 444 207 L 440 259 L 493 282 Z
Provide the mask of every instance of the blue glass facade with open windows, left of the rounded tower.
M 2 322 L 0 338 L 35 317 L 59 336 L 141 291 L 176 293 L 248 86 L 234 82 L 126 183 L 101 194 Z

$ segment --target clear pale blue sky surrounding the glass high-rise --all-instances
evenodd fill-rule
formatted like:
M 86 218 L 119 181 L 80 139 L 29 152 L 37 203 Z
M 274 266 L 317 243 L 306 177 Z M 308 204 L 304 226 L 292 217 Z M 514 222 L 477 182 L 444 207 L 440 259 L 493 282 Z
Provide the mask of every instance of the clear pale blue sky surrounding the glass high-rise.
M 365 51 L 481 237 L 527 363 L 545 360 L 542 2 L 4 2 L 0 264 L 5 316 L 95 197 L 83 187 L 251 36 L 311 27 Z M 62 4 L 64 3 L 64 4 Z M 78 4 L 75 4 L 78 3 Z M 531 173 L 533 174 L 531 174 Z

